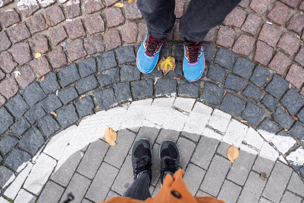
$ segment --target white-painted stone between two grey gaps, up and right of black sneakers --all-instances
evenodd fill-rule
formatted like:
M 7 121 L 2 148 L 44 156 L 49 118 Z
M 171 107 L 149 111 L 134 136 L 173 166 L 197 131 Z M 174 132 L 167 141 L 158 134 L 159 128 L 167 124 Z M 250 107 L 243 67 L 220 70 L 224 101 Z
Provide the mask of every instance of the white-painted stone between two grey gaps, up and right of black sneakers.
M 209 121 L 209 115 L 191 112 L 183 131 L 201 135 Z

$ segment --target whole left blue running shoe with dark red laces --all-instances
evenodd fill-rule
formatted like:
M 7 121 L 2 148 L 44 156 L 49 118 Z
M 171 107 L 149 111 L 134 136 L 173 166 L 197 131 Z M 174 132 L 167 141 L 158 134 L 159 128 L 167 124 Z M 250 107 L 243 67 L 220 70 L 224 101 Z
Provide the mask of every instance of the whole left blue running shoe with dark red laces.
M 168 43 L 164 40 L 156 39 L 147 33 L 136 56 L 136 65 L 140 72 L 150 73 L 153 71 L 158 61 L 161 46 L 167 47 Z

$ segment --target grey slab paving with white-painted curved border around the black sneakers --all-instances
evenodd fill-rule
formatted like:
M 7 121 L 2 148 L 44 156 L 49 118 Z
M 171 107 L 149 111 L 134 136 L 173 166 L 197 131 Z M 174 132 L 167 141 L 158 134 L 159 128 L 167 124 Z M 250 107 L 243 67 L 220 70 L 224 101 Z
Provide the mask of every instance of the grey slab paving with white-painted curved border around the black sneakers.
M 104 140 L 107 126 L 118 130 L 114 147 Z M 227 203 L 303 200 L 299 174 L 253 128 L 179 97 L 135 101 L 86 117 L 51 138 L 24 164 L 4 196 L 14 202 L 48 203 L 63 202 L 73 192 L 74 203 L 88 203 L 121 195 L 133 181 L 130 149 L 139 138 L 152 143 L 152 196 L 160 190 L 160 143 L 171 139 L 179 147 L 184 180 L 193 195 Z M 232 143 L 240 148 L 234 164 L 226 157 Z M 267 174 L 265 181 L 261 172 Z

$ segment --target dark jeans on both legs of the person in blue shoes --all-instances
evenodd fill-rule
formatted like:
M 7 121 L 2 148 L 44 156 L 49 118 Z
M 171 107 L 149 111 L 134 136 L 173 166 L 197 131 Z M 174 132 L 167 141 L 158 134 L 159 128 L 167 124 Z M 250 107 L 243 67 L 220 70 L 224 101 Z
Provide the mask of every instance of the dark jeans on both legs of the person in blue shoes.
M 240 0 L 191 0 L 179 21 L 179 31 L 191 41 L 201 42 L 209 30 L 223 23 Z M 166 38 L 175 22 L 175 0 L 137 0 L 148 32 L 157 39 Z

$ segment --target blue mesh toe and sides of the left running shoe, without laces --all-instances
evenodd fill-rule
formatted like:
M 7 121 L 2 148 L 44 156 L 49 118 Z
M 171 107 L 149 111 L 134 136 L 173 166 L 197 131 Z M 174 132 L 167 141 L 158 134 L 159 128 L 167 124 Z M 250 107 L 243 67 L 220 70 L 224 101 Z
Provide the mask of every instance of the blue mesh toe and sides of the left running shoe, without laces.
M 149 73 L 151 71 L 153 71 L 153 69 L 155 68 L 157 61 L 158 61 L 158 57 L 159 57 L 159 53 L 155 54 L 155 57 L 153 59 L 151 58 L 147 58 L 144 55 L 144 47 L 143 47 L 143 43 L 140 45 L 140 48 L 138 49 L 138 53 L 137 53 L 137 60 L 136 60 L 136 64 L 137 64 L 137 68 L 144 73 Z

